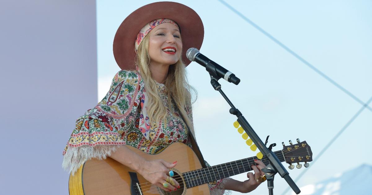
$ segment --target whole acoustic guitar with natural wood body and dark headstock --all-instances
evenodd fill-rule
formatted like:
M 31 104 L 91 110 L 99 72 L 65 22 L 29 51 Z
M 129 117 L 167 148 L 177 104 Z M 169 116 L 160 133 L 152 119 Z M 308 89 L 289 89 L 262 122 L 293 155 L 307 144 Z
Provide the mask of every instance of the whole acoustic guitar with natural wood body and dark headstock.
M 312 161 L 312 152 L 306 141 L 297 144 L 284 145 L 283 150 L 275 151 L 275 155 L 281 162 L 289 163 L 289 169 L 293 169 L 292 163 L 301 168 L 299 162 Z M 229 163 L 219 164 L 212 167 L 202 168 L 202 165 L 187 145 L 181 142 L 170 144 L 158 154 L 147 154 L 137 148 L 128 146 L 132 151 L 146 160 L 163 159 L 167 162 L 177 160 L 177 165 L 171 169 L 174 179 L 180 183 L 180 189 L 166 192 L 144 179 L 139 173 L 124 166 L 112 158 L 97 160 L 95 158 L 86 161 L 69 179 L 70 195 L 205 195 L 210 194 L 208 183 L 223 179 L 236 174 L 251 171 L 251 165 L 255 164 L 257 157 L 244 158 Z M 261 161 L 269 164 L 267 157 Z

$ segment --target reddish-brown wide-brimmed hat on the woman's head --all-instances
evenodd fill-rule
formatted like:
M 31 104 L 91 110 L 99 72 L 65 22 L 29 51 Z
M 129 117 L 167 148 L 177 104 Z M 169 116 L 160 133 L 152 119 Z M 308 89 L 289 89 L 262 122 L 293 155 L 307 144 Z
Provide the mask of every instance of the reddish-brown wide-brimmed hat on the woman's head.
M 200 50 L 204 38 L 204 26 L 199 15 L 184 4 L 162 1 L 142 6 L 127 16 L 116 31 L 113 53 L 122 70 L 135 70 L 135 41 L 140 30 L 149 22 L 171 19 L 179 25 L 182 38 L 182 60 L 185 65 L 191 61 L 186 51 L 195 47 Z

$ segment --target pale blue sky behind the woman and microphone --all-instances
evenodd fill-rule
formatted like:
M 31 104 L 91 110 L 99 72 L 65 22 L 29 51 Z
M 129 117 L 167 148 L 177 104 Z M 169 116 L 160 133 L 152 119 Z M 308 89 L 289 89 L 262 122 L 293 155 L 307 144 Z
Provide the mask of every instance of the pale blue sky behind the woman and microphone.
M 97 0 L 98 101 L 120 70 L 112 54 L 118 26 L 152 2 Z M 309 168 L 288 169 L 299 187 L 371 164 L 372 104 L 363 104 L 372 97 L 372 1 L 176 2 L 203 21 L 201 53 L 241 79 L 239 85 L 220 80 L 222 90 L 260 138 L 270 135 L 274 151 L 296 138 L 311 147 Z M 236 117 L 205 68 L 192 62 L 187 72 L 198 91 L 193 118 L 205 160 L 216 165 L 256 155 L 232 125 Z M 287 186 L 276 176 L 275 194 L 292 194 Z M 267 194 L 266 183 L 253 194 Z

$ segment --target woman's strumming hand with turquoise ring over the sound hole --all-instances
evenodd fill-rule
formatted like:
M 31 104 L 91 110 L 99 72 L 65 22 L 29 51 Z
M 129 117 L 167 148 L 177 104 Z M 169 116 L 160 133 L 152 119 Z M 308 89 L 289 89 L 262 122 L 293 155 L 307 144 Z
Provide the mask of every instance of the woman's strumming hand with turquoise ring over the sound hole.
M 170 177 L 170 179 L 173 179 L 174 185 L 171 185 L 171 182 L 168 182 L 168 188 L 164 188 L 163 186 L 163 183 L 165 183 L 167 177 L 169 177 L 169 169 L 175 167 L 176 164 L 177 161 L 174 163 L 168 163 L 163 159 L 151 161 L 145 160 L 138 170 L 138 173 L 140 173 L 142 177 L 144 177 L 150 183 L 158 186 L 161 189 L 164 189 L 167 192 L 170 192 L 180 188 L 179 183 L 172 177 Z

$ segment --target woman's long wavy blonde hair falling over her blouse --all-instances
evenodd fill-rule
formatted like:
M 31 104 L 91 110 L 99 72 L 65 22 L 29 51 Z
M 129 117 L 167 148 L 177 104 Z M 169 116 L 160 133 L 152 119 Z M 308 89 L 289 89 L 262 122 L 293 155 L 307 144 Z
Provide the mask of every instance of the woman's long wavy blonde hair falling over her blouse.
M 145 90 L 147 93 L 147 101 L 149 105 L 147 107 L 147 114 L 150 118 L 150 124 L 159 122 L 167 116 L 167 109 L 160 98 L 160 94 L 157 90 L 156 81 L 153 79 L 150 71 L 150 55 L 148 54 L 148 43 L 150 36 L 146 36 L 137 50 L 137 66 L 140 69 L 141 76 L 145 83 Z M 181 54 L 182 56 L 182 54 Z M 182 62 L 182 57 L 173 65 L 169 66 L 167 78 L 164 81 L 164 85 L 167 89 L 168 104 L 171 105 L 171 97 L 173 97 L 180 113 L 185 119 L 186 124 L 193 132 L 192 121 L 186 114 L 186 104 L 189 104 L 191 109 L 191 99 L 193 102 L 196 100 L 196 90 L 189 85 L 186 77 L 185 64 Z M 171 111 L 171 113 L 173 113 Z M 177 116 L 176 116 L 177 117 Z

